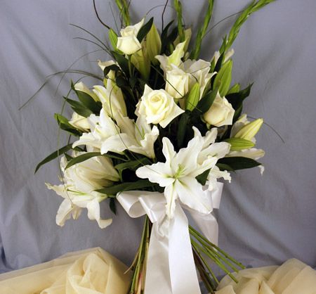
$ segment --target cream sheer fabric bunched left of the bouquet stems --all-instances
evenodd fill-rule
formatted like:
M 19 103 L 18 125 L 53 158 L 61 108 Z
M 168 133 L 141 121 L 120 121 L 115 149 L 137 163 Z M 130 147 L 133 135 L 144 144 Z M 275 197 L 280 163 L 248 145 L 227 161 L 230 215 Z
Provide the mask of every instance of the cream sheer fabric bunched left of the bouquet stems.
M 101 248 L 0 275 L 3 294 L 126 294 L 126 266 Z

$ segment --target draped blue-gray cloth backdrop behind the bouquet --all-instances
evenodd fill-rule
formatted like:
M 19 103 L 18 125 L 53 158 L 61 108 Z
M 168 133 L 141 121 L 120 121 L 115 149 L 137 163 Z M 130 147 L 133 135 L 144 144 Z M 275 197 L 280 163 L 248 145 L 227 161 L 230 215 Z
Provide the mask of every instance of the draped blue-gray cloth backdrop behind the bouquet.
M 103 20 L 114 26 L 110 1 L 97 2 Z M 163 2 L 133 0 L 133 19 Z M 211 24 L 246 4 L 249 0 L 216 1 Z M 183 1 L 187 25 L 197 25 L 205 7 L 205 0 Z M 150 15 L 160 13 L 162 7 Z M 220 246 L 247 266 L 279 264 L 290 257 L 316 266 L 315 14 L 315 0 L 278 0 L 249 18 L 233 46 L 233 82 L 243 87 L 255 82 L 246 112 L 264 117 L 285 141 L 264 126 L 257 139 L 266 151 L 265 174 L 261 177 L 258 169 L 237 172 L 232 184 L 225 185 L 218 213 Z M 169 9 L 166 19 L 172 16 Z M 233 20 L 223 21 L 208 35 L 202 57 L 211 58 Z M 37 162 L 57 147 L 53 113 L 60 111 L 70 77 L 77 76 L 64 79 L 56 95 L 59 78 L 53 79 L 32 103 L 21 111 L 19 106 L 46 75 L 98 49 L 72 39 L 87 36 L 70 23 L 102 39 L 107 36 L 92 1 L 0 0 L 0 271 L 94 246 L 129 263 L 140 238 L 142 219 L 129 219 L 120 208 L 112 226 L 104 230 L 88 221 L 86 212 L 78 221 L 58 227 L 55 214 L 62 198 L 44 185 L 58 183 L 58 163 L 42 167 L 34 176 Z M 98 58 L 107 56 L 91 53 L 73 68 L 98 72 Z M 92 86 L 96 81 L 85 82 Z M 60 145 L 64 141 L 61 136 Z M 103 212 L 111 213 L 107 205 Z

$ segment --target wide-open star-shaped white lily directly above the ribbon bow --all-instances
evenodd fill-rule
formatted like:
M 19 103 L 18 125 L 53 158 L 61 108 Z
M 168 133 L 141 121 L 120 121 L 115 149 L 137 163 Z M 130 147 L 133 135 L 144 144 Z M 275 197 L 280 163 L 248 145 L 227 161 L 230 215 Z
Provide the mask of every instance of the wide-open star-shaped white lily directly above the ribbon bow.
M 215 166 L 217 158 L 212 157 L 211 153 L 218 154 L 220 152 L 220 146 L 213 146 L 213 148 L 206 146 L 208 140 L 209 134 L 206 137 L 197 135 L 189 141 L 186 148 L 181 148 L 176 153 L 171 141 L 164 137 L 162 139 L 162 153 L 166 158 L 166 162 L 145 165 L 136 170 L 138 177 L 147 178 L 152 183 L 164 187 L 166 215 L 169 218 L 173 217 L 176 200 L 178 199 L 183 205 L 193 210 L 204 214 L 211 212 L 211 198 L 207 196 L 202 184 L 199 184 L 196 179 L 199 174 Z M 221 147 L 227 148 L 223 145 Z M 218 150 L 215 152 L 215 149 Z

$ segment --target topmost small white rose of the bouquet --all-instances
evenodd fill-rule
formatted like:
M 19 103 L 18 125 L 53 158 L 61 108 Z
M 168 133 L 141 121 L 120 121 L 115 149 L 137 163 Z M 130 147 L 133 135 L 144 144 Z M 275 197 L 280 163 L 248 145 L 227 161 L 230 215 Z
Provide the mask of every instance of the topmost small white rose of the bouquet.
M 121 30 L 121 37 L 117 38 L 117 49 L 122 51 L 127 55 L 131 55 L 136 51 L 140 50 L 142 46 L 137 39 L 137 34 L 140 30 L 140 27 L 143 26 L 143 20 L 140 20 L 136 25 L 129 25 Z

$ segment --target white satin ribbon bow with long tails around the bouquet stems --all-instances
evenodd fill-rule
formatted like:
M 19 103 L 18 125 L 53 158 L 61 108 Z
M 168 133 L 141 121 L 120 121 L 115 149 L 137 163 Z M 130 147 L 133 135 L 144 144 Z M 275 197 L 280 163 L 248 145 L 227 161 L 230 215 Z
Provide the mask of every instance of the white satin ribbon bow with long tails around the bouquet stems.
M 218 208 L 223 184 L 210 191 L 213 207 Z M 180 203 L 176 201 L 174 217 L 166 216 L 163 193 L 128 191 L 117 196 L 130 217 L 147 215 L 152 233 L 147 258 L 145 294 L 201 294 L 193 260 L 188 222 Z M 218 224 L 211 214 L 189 210 L 202 233 L 213 243 L 218 240 Z

